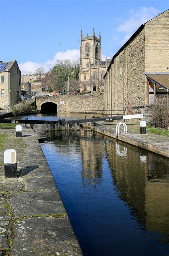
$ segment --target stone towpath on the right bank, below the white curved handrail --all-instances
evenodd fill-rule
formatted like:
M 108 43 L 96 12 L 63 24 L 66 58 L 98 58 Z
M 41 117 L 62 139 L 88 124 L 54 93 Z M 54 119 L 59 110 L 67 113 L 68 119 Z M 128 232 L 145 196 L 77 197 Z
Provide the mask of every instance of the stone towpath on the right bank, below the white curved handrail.
M 116 124 L 118 122 L 124 122 L 124 120 L 113 121 L 113 123 L 96 122 L 96 126 L 93 126 L 92 130 L 116 138 Z M 155 133 L 140 134 L 138 120 L 128 121 L 126 124 L 127 134 L 121 132 L 118 136 L 119 141 L 127 142 L 161 156 L 169 157 L 169 137 Z M 83 127 L 86 125 L 83 124 Z M 91 127 L 91 123 L 88 123 L 88 126 Z M 123 131 L 122 125 L 120 131 Z

